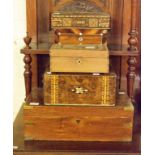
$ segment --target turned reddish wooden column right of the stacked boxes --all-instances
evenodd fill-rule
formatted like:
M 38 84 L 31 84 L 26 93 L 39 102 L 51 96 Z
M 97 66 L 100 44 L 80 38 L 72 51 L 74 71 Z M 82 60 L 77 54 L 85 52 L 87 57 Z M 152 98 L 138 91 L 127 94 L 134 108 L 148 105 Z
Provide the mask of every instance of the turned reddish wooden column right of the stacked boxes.
M 131 0 L 131 30 L 129 32 L 129 47 L 130 52 L 136 51 L 138 39 L 137 39 L 137 28 L 136 28 L 136 17 L 137 17 L 137 0 Z M 128 58 L 128 72 L 127 72 L 127 91 L 128 96 L 133 100 L 134 95 L 134 81 L 136 76 L 136 57 L 130 56 Z

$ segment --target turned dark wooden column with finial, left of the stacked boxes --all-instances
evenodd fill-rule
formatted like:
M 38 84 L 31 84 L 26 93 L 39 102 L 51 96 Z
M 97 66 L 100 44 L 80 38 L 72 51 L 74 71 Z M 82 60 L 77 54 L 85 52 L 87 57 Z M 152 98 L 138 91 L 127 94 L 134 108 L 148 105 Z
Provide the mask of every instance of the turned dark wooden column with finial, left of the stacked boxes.
M 32 38 L 29 37 L 28 33 L 27 36 L 24 38 L 24 42 L 26 44 L 25 49 L 29 50 L 31 49 L 30 43 L 31 43 Z M 30 54 L 25 54 L 24 59 L 25 63 L 25 71 L 24 71 L 24 79 L 25 79 L 25 90 L 26 90 L 26 98 L 25 101 L 28 100 L 28 97 L 31 93 L 31 78 L 32 78 L 32 72 L 31 72 L 31 62 L 32 58 Z

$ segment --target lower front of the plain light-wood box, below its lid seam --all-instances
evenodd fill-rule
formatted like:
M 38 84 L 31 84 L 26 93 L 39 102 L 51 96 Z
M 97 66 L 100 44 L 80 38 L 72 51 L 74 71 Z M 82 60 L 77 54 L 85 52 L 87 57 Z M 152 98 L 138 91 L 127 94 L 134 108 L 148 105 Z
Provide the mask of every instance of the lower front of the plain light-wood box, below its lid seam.
M 51 72 L 109 73 L 108 58 L 53 57 Z

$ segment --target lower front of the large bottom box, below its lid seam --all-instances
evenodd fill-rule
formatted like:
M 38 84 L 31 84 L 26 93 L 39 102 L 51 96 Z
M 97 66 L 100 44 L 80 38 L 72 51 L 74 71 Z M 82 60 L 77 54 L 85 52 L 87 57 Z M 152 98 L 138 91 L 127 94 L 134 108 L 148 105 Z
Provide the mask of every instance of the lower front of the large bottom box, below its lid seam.
M 28 118 L 25 137 L 55 141 L 131 141 L 130 118 L 68 117 Z M 47 125 L 48 124 L 48 125 Z

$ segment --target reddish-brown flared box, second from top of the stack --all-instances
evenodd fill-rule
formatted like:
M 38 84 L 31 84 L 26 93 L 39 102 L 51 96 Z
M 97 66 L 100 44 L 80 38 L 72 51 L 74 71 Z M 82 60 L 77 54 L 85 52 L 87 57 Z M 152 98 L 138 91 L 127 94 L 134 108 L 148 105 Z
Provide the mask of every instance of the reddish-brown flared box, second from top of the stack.
M 84 45 L 84 44 L 104 44 L 107 41 L 106 30 L 90 29 L 57 29 L 55 30 L 57 34 L 58 44 L 74 44 L 74 45 Z

